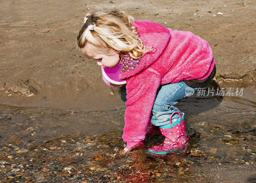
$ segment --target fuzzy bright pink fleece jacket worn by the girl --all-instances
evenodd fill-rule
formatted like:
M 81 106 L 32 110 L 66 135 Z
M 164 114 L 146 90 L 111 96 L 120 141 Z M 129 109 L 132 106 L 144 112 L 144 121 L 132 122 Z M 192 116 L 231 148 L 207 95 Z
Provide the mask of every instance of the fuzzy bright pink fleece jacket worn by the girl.
M 131 143 L 145 138 L 158 87 L 204 76 L 213 58 L 210 45 L 191 32 L 172 30 L 149 20 L 135 21 L 134 26 L 144 46 L 154 46 L 154 50 L 144 54 L 134 70 L 119 75 L 127 83 L 122 137 Z

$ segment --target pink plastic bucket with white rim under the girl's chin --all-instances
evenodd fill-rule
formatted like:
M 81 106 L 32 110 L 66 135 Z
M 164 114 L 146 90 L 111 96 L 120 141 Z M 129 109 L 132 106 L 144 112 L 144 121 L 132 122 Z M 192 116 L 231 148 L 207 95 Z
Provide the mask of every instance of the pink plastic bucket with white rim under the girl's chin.
M 107 68 L 103 65 L 101 66 L 103 81 L 108 84 L 108 86 L 118 88 L 126 84 L 125 80 L 120 80 L 118 78 L 121 71 L 121 66 L 118 64 L 116 68 Z

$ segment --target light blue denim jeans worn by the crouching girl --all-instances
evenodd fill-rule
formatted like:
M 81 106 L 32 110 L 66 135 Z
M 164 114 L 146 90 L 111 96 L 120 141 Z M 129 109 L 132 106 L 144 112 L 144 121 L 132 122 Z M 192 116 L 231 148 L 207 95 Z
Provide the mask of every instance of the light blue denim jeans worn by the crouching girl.
M 193 95 L 201 88 L 202 87 L 190 87 L 183 81 L 161 85 L 156 92 L 155 102 L 152 107 L 153 116 L 151 118 L 151 123 L 155 126 L 170 124 L 171 114 L 174 111 L 180 112 L 180 110 L 173 105 L 177 104 L 181 99 L 186 99 Z M 179 114 L 175 113 L 172 116 L 172 122 L 174 118 L 180 118 Z

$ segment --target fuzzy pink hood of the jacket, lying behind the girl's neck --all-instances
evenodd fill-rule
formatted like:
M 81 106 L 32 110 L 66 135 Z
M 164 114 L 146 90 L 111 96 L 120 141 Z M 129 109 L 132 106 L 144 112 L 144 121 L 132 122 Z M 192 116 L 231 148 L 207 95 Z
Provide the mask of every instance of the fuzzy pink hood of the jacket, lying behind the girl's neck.
M 146 48 L 154 46 L 154 49 L 142 56 L 140 65 L 134 70 L 120 73 L 119 79 L 131 77 L 155 62 L 171 38 L 170 31 L 166 27 L 150 20 L 136 20 L 133 26 L 139 31 L 143 45 Z

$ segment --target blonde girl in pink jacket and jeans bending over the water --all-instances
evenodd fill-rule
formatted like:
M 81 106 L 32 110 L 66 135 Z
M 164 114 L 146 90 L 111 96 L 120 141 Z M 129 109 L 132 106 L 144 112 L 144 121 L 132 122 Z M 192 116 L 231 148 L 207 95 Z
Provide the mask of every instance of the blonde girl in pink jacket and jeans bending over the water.
M 91 11 L 77 36 L 82 54 L 98 65 L 121 65 L 127 101 L 125 151 L 145 138 L 148 124 L 160 128 L 164 143 L 155 154 L 185 151 L 184 113 L 174 105 L 208 84 L 216 73 L 210 45 L 191 32 L 136 20 L 125 12 Z M 151 122 L 151 123 L 150 123 Z

